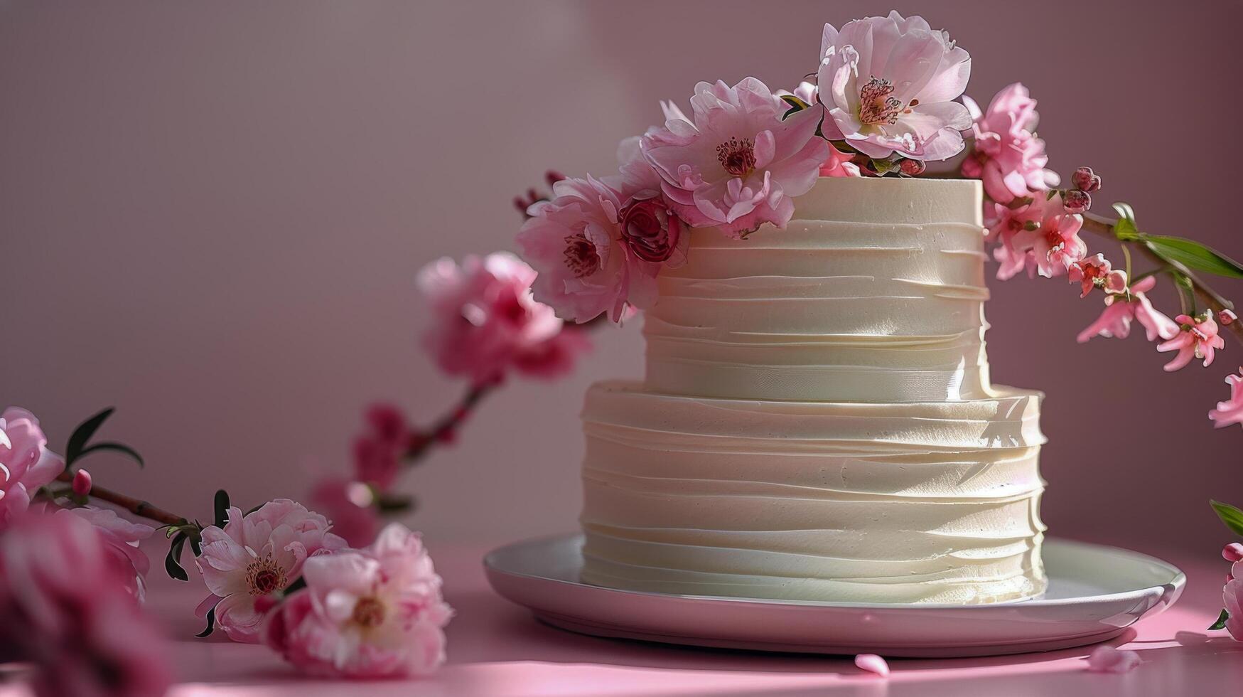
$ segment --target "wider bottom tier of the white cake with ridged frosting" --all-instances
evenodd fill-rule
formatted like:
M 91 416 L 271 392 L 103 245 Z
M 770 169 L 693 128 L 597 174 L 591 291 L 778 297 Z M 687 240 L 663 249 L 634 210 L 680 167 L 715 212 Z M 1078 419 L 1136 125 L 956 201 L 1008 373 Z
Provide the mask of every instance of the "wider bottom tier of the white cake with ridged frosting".
M 583 581 L 850 602 L 1040 595 L 1042 396 L 994 392 L 777 402 L 597 383 Z

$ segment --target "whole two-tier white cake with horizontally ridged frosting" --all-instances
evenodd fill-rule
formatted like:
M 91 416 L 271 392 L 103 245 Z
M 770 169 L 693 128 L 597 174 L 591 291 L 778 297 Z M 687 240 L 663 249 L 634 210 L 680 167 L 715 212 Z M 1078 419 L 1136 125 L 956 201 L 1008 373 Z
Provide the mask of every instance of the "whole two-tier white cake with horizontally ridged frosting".
M 1042 396 L 989 385 L 979 183 L 820 178 L 784 230 L 690 234 L 646 311 L 646 380 L 587 395 L 583 580 L 1042 594 Z

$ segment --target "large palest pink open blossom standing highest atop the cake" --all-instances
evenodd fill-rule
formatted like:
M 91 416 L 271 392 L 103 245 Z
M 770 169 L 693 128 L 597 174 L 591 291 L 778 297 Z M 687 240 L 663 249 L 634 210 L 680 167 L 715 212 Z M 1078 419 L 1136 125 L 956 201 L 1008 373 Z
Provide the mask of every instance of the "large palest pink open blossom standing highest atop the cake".
M 953 100 L 967 88 L 971 56 L 922 17 L 891 11 L 840 32 L 827 24 L 820 58 L 828 139 L 874 158 L 946 159 L 962 149 L 971 112 Z

